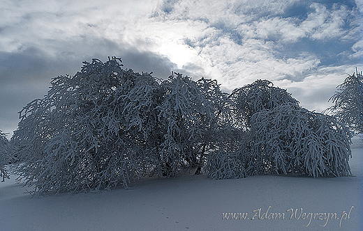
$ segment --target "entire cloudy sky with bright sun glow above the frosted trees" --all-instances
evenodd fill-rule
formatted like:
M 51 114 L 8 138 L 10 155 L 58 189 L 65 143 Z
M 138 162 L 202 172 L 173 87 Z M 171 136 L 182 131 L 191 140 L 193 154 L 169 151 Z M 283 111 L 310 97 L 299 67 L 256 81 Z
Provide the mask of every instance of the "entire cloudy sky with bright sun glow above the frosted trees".
M 217 79 L 225 92 L 269 79 L 309 110 L 363 69 L 363 0 L 1 0 L 0 129 L 82 61 Z M 8 136 L 10 138 L 10 135 Z

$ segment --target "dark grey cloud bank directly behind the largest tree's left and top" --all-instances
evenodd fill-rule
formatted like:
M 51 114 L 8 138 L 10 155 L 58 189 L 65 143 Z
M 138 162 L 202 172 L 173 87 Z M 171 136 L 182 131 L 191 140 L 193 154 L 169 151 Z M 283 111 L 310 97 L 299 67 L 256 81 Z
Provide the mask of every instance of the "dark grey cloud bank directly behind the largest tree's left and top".
M 117 56 L 121 57 L 125 68 L 154 72 L 154 76 L 164 79 L 177 68 L 165 56 L 139 51 L 129 45 L 117 45 L 106 39 L 55 42 L 54 46 L 63 47 L 55 56 L 30 46 L 17 52 L 0 51 L 0 129 L 3 132 L 11 133 L 15 129 L 17 112 L 31 100 L 42 98 L 52 77 L 75 74 L 82 67 L 82 61 L 91 61 L 91 58 L 107 61 L 108 56 Z

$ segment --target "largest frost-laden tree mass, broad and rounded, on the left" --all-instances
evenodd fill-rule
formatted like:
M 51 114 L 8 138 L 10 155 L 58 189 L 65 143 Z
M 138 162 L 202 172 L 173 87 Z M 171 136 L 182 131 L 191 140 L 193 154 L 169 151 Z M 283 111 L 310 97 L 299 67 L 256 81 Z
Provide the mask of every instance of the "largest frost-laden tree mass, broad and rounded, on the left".
M 201 173 L 229 121 L 228 95 L 216 81 L 182 74 L 161 81 L 122 69 L 117 58 L 84 62 L 51 85 L 20 111 L 11 140 L 20 180 L 40 193 Z

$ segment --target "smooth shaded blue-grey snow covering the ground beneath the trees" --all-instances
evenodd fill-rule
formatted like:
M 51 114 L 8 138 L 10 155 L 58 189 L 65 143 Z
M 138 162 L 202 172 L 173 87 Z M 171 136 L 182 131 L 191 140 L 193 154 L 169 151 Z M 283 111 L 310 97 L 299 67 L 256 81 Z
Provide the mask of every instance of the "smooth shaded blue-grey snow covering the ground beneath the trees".
M 31 198 L 11 176 L 0 183 L 0 230 L 362 230 L 363 142 L 352 148 L 351 177 L 184 175 Z

